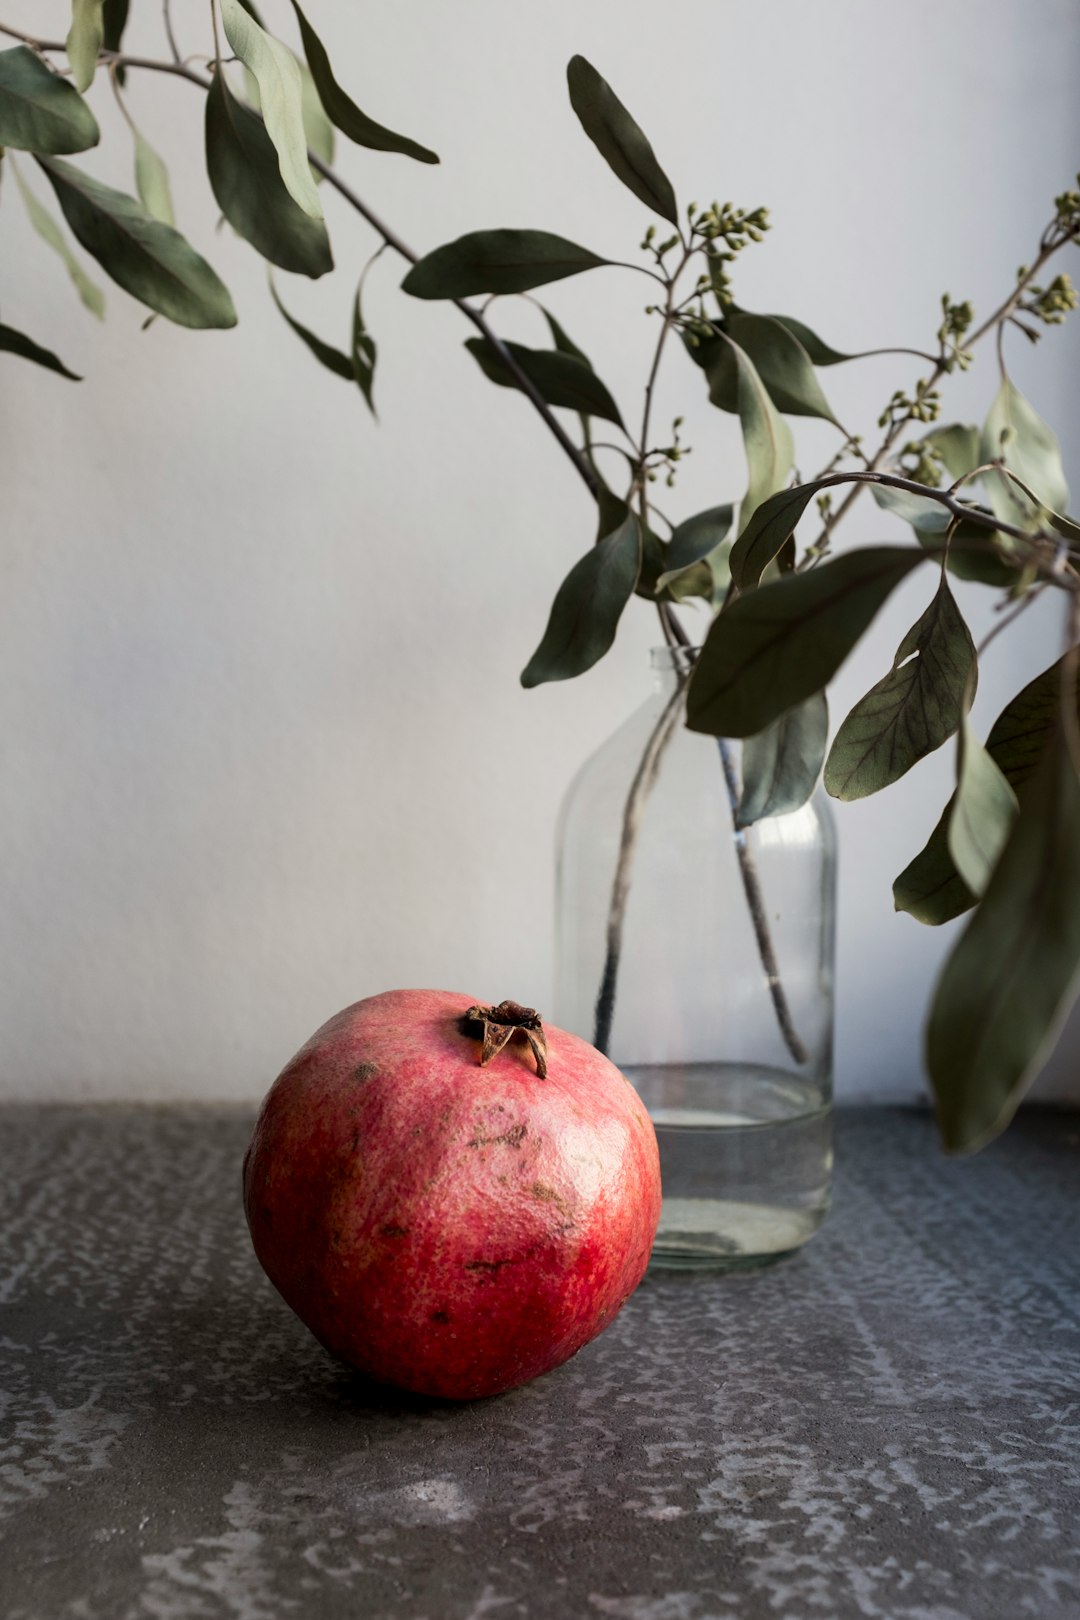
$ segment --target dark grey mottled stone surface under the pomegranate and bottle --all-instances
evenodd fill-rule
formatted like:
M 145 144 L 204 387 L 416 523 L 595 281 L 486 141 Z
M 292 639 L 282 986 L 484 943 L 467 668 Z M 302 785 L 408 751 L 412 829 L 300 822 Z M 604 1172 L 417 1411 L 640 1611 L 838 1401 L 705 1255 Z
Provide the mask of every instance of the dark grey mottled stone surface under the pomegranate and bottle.
M 0 1110 L 5 1620 L 1080 1617 L 1080 1119 L 842 1115 L 836 1212 L 450 1406 L 259 1272 L 251 1119 Z

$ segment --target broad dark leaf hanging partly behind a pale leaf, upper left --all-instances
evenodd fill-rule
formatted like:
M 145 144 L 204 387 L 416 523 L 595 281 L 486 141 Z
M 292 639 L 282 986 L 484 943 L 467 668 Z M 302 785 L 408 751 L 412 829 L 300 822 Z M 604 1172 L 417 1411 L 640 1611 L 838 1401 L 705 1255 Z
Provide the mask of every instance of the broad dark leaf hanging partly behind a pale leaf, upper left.
M 223 73 L 214 75 L 206 97 L 206 167 L 222 214 L 264 259 L 311 277 L 334 269 L 325 225 L 288 194 L 266 125 L 233 96 Z

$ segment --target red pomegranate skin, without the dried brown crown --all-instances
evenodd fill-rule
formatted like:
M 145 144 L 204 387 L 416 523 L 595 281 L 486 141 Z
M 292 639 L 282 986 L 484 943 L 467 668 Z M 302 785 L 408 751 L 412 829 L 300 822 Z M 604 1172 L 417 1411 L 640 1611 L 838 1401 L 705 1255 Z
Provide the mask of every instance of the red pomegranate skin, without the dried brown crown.
M 474 998 L 393 990 L 332 1017 L 274 1082 L 244 1157 L 267 1277 L 329 1351 L 471 1400 L 557 1367 L 641 1281 L 661 1213 L 653 1123 L 593 1047 L 546 1025 L 486 1068 Z

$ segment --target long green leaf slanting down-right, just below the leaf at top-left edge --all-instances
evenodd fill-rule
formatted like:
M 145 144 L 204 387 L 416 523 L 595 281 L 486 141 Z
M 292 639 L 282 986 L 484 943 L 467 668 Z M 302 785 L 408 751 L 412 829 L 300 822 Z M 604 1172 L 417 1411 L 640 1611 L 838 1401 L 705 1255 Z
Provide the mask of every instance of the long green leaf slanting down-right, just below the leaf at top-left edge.
M 58 157 L 39 157 L 78 241 L 107 275 L 178 326 L 236 324 L 228 288 L 180 232 Z

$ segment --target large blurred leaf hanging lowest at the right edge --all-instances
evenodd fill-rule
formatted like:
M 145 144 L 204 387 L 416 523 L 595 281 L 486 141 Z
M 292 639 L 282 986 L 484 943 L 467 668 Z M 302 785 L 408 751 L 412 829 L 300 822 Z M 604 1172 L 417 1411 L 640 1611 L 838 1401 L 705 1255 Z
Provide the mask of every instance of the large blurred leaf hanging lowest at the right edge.
M 1057 1038 L 1078 967 L 1080 779 L 1057 732 L 934 993 L 926 1061 L 950 1152 L 1006 1128 Z

